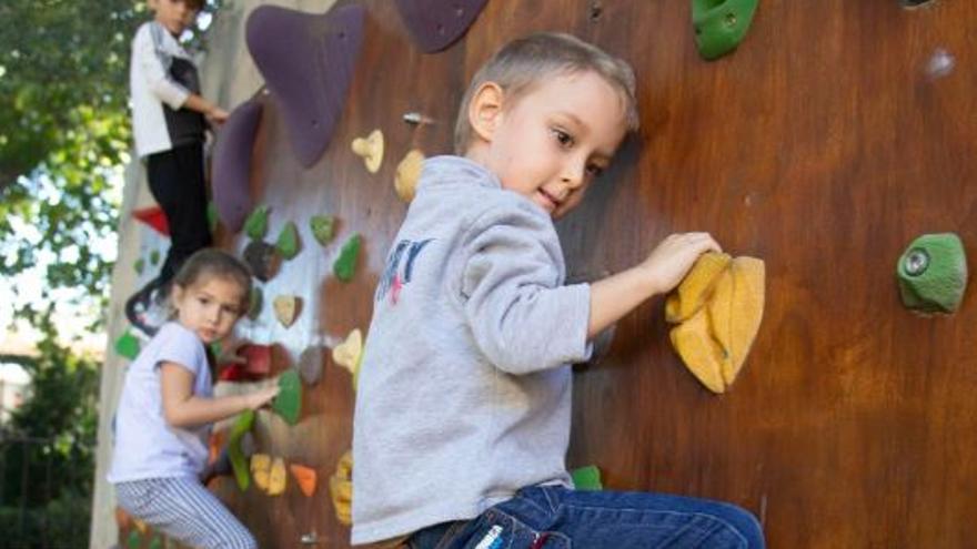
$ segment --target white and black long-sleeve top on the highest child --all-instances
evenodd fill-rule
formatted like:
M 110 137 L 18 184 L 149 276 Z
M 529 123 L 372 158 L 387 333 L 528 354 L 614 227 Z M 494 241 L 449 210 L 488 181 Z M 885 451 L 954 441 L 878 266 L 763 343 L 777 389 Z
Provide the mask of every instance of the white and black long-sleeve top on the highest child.
M 129 88 L 139 156 L 203 142 L 203 115 L 183 108 L 191 93 L 200 93 L 197 67 L 157 21 L 143 23 L 132 39 Z

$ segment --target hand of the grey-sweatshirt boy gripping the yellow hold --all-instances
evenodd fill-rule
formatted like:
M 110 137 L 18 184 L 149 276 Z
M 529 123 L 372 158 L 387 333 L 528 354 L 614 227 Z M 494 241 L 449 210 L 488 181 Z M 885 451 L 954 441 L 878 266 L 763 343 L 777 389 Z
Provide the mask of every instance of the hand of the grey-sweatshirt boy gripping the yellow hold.
M 676 233 L 661 244 L 638 265 L 645 272 L 655 294 L 665 294 L 685 278 L 705 252 L 722 252 L 709 233 Z

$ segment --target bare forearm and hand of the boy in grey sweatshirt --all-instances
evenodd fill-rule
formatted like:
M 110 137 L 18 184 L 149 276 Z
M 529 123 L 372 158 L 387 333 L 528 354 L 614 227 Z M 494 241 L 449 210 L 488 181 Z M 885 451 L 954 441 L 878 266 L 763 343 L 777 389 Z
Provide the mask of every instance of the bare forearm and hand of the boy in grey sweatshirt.
M 641 264 L 591 284 L 587 339 L 649 297 L 671 292 L 704 252 L 719 252 L 708 233 L 673 234 Z

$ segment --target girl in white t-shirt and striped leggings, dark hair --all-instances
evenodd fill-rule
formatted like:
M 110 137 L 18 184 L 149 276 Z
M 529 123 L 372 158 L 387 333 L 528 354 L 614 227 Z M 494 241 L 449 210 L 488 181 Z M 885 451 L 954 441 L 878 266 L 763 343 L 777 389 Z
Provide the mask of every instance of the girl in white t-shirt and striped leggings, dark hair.
M 248 529 L 201 481 L 214 421 L 268 404 L 270 387 L 213 397 L 208 346 L 246 311 L 251 273 L 205 248 L 184 262 L 169 297 L 173 315 L 125 373 L 108 480 L 119 505 L 198 548 L 255 548 Z

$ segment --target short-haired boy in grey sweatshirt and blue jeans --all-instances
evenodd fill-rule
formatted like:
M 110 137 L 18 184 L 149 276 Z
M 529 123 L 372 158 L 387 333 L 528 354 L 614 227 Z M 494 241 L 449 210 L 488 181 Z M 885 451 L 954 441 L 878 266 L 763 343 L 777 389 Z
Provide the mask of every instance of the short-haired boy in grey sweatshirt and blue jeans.
M 571 367 L 591 339 L 719 246 L 665 238 L 564 285 L 553 218 L 637 128 L 631 68 L 567 34 L 500 50 L 464 95 L 455 146 L 425 162 L 374 296 L 353 427 L 353 543 L 411 548 L 763 547 L 747 511 L 576 491 Z

